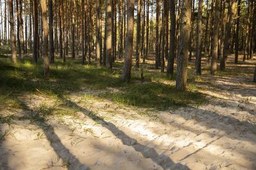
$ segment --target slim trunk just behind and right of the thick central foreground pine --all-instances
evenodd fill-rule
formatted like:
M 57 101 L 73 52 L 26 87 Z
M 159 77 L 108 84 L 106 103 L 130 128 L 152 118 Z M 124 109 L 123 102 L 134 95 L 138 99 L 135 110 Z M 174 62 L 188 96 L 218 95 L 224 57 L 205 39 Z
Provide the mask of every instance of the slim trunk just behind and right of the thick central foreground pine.
M 137 30 L 136 30 L 136 64 L 140 65 L 140 27 L 141 27 L 141 0 L 137 0 Z

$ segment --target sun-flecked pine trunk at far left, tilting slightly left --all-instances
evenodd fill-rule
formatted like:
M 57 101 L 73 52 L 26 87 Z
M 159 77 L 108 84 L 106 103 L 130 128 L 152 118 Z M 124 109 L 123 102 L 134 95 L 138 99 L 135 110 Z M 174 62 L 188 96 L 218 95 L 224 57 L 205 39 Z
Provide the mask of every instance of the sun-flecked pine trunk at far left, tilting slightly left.
M 11 36 L 11 43 L 12 43 L 12 61 L 14 63 L 17 62 L 17 51 L 16 51 L 16 39 L 14 33 L 14 18 L 13 18 L 13 0 L 8 0 L 9 4 L 9 18 L 10 18 L 10 36 Z

